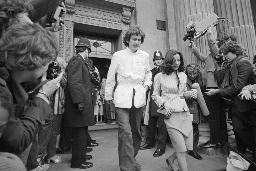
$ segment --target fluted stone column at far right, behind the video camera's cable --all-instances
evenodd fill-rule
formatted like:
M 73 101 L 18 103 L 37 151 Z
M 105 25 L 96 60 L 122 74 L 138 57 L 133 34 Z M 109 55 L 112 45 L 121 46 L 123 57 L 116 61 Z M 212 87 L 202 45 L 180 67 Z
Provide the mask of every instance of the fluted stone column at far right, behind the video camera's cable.
M 253 16 L 251 12 L 250 0 L 213 0 L 214 11 L 219 17 L 227 18 L 230 25 L 225 20 L 226 35 L 229 34 L 228 26 L 231 33 L 235 34 L 239 44 L 243 44 L 246 48 L 246 54 L 250 61 L 256 54 L 256 38 L 253 24 Z M 223 22 L 219 22 L 217 26 L 218 37 L 223 37 Z

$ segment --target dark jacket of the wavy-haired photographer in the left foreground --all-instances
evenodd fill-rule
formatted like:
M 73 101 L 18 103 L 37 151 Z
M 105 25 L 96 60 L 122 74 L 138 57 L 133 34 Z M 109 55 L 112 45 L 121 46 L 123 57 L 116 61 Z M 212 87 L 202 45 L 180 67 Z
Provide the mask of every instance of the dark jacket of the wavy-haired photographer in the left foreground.
M 46 115 L 52 110 L 49 104 L 40 97 L 34 97 L 28 103 L 27 93 L 17 81 L 10 78 L 4 67 L 0 68 L 0 89 L 18 107 L 16 113 L 10 113 L 7 126 L 0 137 L 0 151 L 17 155 L 31 144 L 41 125 L 45 124 Z

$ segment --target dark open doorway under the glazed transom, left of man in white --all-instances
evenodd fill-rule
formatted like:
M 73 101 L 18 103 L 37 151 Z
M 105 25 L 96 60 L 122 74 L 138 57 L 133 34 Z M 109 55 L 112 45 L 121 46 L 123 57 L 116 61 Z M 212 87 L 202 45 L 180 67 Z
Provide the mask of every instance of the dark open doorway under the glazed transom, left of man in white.
M 102 78 L 107 78 L 107 71 L 109 70 L 111 59 L 89 57 L 93 61 L 93 66 L 97 67 Z

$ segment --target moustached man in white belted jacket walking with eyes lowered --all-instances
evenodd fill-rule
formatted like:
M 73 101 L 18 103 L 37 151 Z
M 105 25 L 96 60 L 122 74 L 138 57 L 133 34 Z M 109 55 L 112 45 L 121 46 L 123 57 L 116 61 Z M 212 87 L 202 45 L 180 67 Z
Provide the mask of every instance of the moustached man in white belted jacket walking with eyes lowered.
M 146 104 L 146 92 L 152 84 L 149 54 L 138 49 L 144 38 L 145 33 L 139 26 L 130 26 L 123 40 L 127 48 L 114 53 L 107 73 L 105 99 L 109 104 L 113 100 L 117 74 L 114 101 L 119 127 L 119 167 L 122 171 L 141 170 L 135 156 L 141 145 L 142 107 Z

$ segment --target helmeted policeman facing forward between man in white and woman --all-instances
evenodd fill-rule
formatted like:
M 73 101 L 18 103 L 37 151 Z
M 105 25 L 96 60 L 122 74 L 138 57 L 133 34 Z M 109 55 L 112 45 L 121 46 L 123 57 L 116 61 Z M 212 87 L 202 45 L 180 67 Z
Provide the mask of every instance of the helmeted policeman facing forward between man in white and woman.
M 152 85 L 150 89 L 150 100 L 149 100 L 149 123 L 147 126 L 147 139 L 143 146 L 141 146 L 139 149 L 149 149 L 154 148 L 155 145 L 155 132 L 156 132 L 156 125 L 157 125 L 157 119 L 158 119 L 158 145 L 157 150 L 153 153 L 154 157 L 162 156 L 163 153 L 165 153 L 165 144 L 166 144 L 166 135 L 167 135 L 167 129 L 165 122 L 163 121 L 163 117 L 157 116 L 157 109 L 158 106 L 155 104 L 154 101 L 152 101 L 151 95 L 154 91 L 154 78 L 155 75 L 157 75 L 160 71 L 159 66 L 163 62 L 163 55 L 162 52 L 157 50 L 154 52 L 154 65 L 155 67 L 151 70 L 152 72 Z

